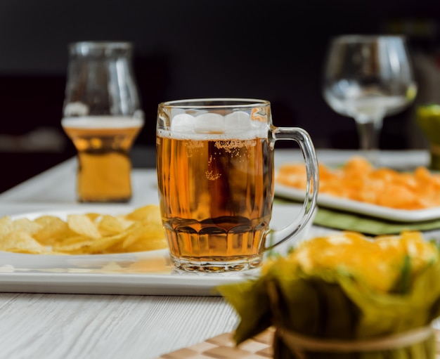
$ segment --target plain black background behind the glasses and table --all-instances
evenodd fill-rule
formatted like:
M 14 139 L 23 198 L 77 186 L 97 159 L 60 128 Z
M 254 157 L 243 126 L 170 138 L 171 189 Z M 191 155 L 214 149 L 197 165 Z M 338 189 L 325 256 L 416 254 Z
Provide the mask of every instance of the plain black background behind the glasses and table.
M 75 155 L 60 128 L 72 41 L 134 43 L 145 112 L 136 148 L 155 145 L 157 103 L 213 96 L 270 100 L 276 126 L 303 127 L 316 148 L 357 148 L 354 121 L 321 96 L 328 41 L 348 33 L 406 34 L 420 91 L 413 106 L 385 119 L 380 147 L 423 147 L 414 107 L 440 102 L 437 3 L 1 0 L 0 192 Z M 34 146 L 23 145 L 29 139 Z

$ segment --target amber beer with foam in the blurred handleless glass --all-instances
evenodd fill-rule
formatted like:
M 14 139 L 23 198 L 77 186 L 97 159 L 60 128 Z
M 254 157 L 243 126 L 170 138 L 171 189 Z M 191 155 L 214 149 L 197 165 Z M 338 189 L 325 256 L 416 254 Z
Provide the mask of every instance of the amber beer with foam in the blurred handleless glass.
M 77 148 L 80 202 L 131 199 L 129 150 L 143 126 L 133 117 L 67 117 L 61 122 Z

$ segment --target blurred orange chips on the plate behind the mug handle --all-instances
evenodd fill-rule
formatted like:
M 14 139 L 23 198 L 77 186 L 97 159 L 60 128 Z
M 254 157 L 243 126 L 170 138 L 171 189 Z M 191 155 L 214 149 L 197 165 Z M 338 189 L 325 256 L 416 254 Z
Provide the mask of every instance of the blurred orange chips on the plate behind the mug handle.
M 352 157 L 343 167 L 319 165 L 319 192 L 325 195 L 377 204 L 394 209 L 427 209 L 440 206 L 440 174 L 425 167 L 399 172 L 375 168 L 363 157 Z M 276 181 L 306 188 L 304 164 L 284 164 Z

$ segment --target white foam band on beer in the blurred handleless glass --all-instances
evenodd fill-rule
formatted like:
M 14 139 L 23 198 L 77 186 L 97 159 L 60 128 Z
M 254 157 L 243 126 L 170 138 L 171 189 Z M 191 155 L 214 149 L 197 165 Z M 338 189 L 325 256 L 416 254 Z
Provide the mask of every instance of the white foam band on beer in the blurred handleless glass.
M 77 129 L 125 129 L 143 126 L 143 119 L 129 116 L 64 117 L 61 126 Z

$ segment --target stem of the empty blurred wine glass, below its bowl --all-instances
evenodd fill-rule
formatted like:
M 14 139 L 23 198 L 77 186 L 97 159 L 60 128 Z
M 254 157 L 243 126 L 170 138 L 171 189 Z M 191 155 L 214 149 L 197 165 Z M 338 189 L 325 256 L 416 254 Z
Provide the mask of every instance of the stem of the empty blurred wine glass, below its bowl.
M 374 166 L 379 165 L 379 138 L 382 123 L 382 118 L 370 121 L 356 119 L 361 152 Z

